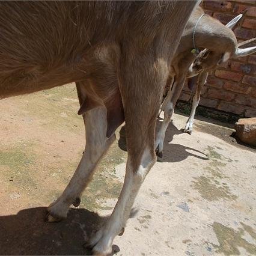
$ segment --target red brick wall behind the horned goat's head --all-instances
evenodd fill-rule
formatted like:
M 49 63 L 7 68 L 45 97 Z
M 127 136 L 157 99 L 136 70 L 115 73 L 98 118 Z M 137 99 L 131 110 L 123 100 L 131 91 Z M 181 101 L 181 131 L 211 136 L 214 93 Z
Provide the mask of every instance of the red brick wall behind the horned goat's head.
M 243 23 L 234 32 L 239 41 L 256 37 L 256 1 L 204 0 L 202 7 L 207 14 L 224 24 L 248 9 Z M 186 86 L 180 99 L 192 99 Z M 256 117 L 256 55 L 230 59 L 214 70 L 203 89 L 200 105 L 243 117 Z

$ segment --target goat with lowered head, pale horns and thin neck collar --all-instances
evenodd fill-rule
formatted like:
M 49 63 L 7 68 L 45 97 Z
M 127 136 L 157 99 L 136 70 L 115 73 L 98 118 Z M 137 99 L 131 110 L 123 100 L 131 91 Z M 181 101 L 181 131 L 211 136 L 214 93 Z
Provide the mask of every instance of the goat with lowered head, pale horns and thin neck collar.
M 219 20 L 205 14 L 201 7 L 197 7 L 191 14 L 171 63 L 171 72 L 168 79 L 170 88 L 160 108 L 160 111 L 164 111 L 164 120 L 156 136 L 157 156 L 163 156 L 165 132 L 186 78 L 198 76 L 198 90 L 193 99 L 190 118 L 184 129 L 184 132 L 191 133 L 195 108 L 197 108 L 200 92 L 206 83 L 209 71 L 229 58 L 239 58 L 256 52 L 256 47 L 240 49 L 237 46 L 237 39 L 231 28 L 236 25 L 241 17 L 242 14 L 224 26 Z M 196 49 L 198 49 L 198 52 L 199 50 L 202 51 L 197 54 L 194 51 Z

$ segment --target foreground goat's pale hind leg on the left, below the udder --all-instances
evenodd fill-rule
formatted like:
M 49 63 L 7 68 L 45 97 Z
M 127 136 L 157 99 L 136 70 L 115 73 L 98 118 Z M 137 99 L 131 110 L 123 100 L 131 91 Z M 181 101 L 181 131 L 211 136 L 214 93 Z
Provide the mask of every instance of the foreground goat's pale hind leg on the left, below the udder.
M 102 156 L 114 142 L 115 135 L 106 138 L 106 109 L 97 107 L 83 115 L 86 145 L 82 159 L 62 195 L 50 204 L 46 221 L 55 222 L 66 218 L 71 204 L 79 206 L 81 195 L 90 182 L 94 169 Z

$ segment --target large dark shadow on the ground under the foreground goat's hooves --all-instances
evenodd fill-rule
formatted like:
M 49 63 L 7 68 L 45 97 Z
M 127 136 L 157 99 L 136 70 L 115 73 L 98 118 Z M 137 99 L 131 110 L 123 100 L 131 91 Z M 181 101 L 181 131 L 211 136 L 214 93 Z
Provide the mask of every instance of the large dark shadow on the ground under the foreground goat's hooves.
M 0 216 L 0 255 L 91 255 L 87 237 L 106 220 L 85 209 L 70 209 L 62 222 L 44 222 L 45 207 Z

